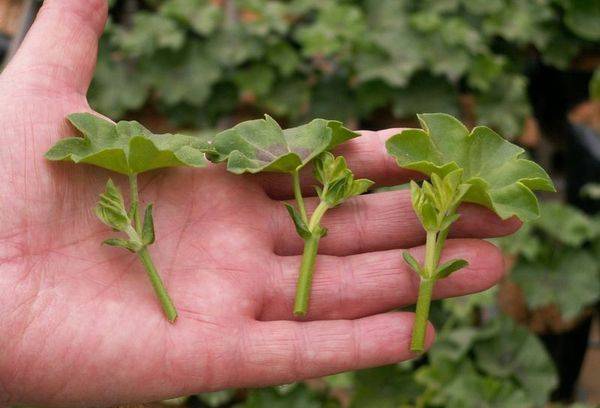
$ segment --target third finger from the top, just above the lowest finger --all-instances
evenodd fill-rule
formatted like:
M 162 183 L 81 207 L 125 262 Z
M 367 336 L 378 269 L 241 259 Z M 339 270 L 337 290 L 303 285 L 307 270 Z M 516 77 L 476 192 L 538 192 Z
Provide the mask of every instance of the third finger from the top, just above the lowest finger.
M 401 250 L 348 257 L 317 256 L 307 319 L 353 319 L 381 313 L 416 301 L 419 277 L 402 259 Z M 410 250 L 418 260 L 424 248 Z M 442 261 L 466 259 L 469 266 L 439 280 L 435 299 L 462 296 L 493 286 L 504 274 L 498 248 L 482 240 L 449 240 Z M 261 320 L 292 317 L 300 257 L 280 258 L 268 280 Z

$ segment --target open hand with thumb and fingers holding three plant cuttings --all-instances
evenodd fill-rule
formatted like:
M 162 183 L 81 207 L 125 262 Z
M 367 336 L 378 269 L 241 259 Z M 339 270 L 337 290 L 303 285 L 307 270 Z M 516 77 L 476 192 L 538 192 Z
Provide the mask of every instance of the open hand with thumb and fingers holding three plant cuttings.
M 302 242 L 279 201 L 289 180 L 214 165 L 142 177 L 142 201 L 156 203 L 150 250 L 179 311 L 166 321 L 136 257 L 100 245 L 111 232 L 90 208 L 109 174 L 43 158 L 74 134 L 65 116 L 90 110 L 105 19 L 104 0 L 47 0 L 0 76 L 0 405 L 107 406 L 411 358 L 413 315 L 389 312 L 416 298 L 401 248 L 420 257 L 424 241 L 403 191 L 324 218 L 311 309 L 295 321 Z M 343 148 L 357 176 L 406 181 L 385 155 L 393 133 L 364 132 Z M 517 227 L 476 206 L 462 213 L 445 257 L 471 266 L 441 281 L 438 298 L 494 284 L 501 256 L 472 238 Z

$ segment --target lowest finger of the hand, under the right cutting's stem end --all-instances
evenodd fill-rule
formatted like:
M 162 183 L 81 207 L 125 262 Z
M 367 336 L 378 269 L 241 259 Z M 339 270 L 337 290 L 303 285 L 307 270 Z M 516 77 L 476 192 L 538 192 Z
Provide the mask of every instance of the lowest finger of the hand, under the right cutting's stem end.
M 357 320 L 256 322 L 238 371 L 246 386 L 290 383 L 397 363 L 409 350 L 414 315 L 387 313 Z M 429 325 L 426 347 L 434 330 Z

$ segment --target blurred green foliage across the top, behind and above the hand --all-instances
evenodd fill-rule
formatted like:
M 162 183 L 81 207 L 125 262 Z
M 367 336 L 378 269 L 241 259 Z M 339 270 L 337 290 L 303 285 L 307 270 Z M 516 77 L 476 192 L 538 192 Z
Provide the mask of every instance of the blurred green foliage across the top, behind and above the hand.
M 244 109 L 294 124 L 386 108 L 475 114 L 515 136 L 530 111 L 526 65 L 566 69 L 600 40 L 598 0 L 111 3 L 92 106 L 118 119 L 151 105 L 189 127 Z

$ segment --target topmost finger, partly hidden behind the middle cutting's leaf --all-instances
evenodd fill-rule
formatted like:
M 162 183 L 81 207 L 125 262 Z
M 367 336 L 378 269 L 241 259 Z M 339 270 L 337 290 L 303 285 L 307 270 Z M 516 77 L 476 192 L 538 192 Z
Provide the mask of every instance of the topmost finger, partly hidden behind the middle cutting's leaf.
M 406 183 L 410 179 L 422 178 L 419 173 L 401 169 L 392 156 L 387 153 L 385 142 L 402 129 L 386 129 L 377 132 L 360 131 L 362 136 L 349 140 L 335 149 L 336 155 L 343 155 L 348 162 L 348 168 L 356 178 L 368 178 L 378 186 L 391 186 Z M 293 195 L 291 177 L 289 174 L 262 173 L 257 175 L 258 182 L 263 186 L 269 197 L 284 200 Z M 301 173 L 302 191 L 306 196 L 316 195 L 312 167 Z

